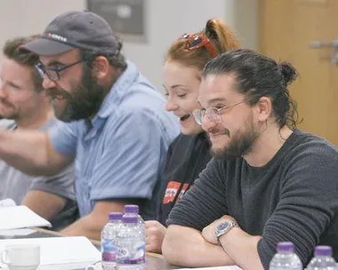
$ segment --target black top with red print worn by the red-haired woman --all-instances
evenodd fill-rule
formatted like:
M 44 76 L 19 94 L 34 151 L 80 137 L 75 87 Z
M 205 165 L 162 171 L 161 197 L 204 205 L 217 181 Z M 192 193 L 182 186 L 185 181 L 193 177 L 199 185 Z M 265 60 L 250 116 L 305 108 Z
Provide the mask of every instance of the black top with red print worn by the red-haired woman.
M 209 150 L 205 132 L 193 136 L 181 134 L 168 148 L 157 203 L 157 220 L 163 225 L 173 205 L 211 160 Z

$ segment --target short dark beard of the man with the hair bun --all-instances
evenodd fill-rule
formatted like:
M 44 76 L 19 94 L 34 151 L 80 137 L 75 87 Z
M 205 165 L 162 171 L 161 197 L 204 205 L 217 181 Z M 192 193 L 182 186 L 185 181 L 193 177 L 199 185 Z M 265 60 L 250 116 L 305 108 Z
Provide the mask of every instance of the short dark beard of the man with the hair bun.
M 247 131 L 245 134 L 231 139 L 228 147 L 218 150 L 213 150 L 212 147 L 212 155 L 217 159 L 229 160 L 250 153 L 254 145 L 254 141 L 259 137 L 259 133 L 254 131 L 252 123 L 250 128 L 247 126 L 245 130 Z

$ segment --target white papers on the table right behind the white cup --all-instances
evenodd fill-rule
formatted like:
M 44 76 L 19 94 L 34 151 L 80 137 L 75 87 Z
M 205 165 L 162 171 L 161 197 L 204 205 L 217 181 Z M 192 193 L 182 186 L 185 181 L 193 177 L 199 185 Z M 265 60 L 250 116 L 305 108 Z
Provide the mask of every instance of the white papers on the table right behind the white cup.
M 0 252 L 11 244 L 40 245 L 41 266 L 68 263 L 84 263 L 86 266 L 101 260 L 101 252 L 84 236 L 4 239 L 0 240 Z

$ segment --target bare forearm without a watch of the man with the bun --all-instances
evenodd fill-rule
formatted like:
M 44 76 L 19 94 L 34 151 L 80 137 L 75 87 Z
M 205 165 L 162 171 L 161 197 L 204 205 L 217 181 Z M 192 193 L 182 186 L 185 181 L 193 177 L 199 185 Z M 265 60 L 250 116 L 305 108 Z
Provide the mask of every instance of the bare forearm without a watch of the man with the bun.
M 206 242 L 196 229 L 169 226 L 162 246 L 165 258 L 178 266 L 226 266 L 234 261 L 222 250 L 221 246 Z

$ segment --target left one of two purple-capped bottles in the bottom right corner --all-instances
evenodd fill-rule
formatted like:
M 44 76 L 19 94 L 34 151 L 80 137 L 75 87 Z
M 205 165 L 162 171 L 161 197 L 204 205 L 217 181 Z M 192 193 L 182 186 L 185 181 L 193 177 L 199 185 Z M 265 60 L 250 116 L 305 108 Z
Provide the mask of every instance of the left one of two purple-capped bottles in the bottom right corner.
M 294 243 L 278 242 L 277 253 L 270 261 L 269 270 L 302 270 L 302 261 L 294 253 Z

